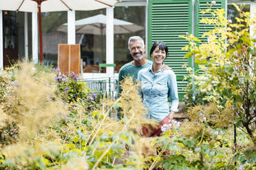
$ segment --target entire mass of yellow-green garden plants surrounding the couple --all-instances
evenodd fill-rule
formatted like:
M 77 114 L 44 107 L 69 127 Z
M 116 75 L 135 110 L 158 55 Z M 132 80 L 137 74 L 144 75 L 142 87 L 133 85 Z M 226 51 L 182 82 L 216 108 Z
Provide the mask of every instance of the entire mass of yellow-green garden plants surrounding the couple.
M 239 8 L 237 7 L 237 10 Z M 98 100 L 74 73 L 22 62 L 0 73 L 0 169 L 255 169 L 256 19 L 237 23 L 206 10 L 208 43 L 184 47 L 202 74 L 190 72 L 187 119 L 161 136 L 142 138 L 146 112 L 139 84 Z M 77 84 L 77 86 L 74 86 Z M 194 97 L 193 97 L 194 96 Z M 193 99 L 195 98 L 195 99 Z M 121 108 L 122 119 L 114 115 Z

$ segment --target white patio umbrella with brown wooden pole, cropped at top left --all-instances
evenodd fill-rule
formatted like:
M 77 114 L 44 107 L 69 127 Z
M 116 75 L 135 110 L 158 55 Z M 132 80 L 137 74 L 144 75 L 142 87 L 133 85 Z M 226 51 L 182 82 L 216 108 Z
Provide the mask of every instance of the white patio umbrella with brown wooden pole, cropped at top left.
M 112 7 L 116 0 L 1 0 L 0 10 L 23 12 L 38 12 L 40 61 L 43 62 L 43 41 L 41 27 L 41 12 L 65 10 L 97 10 Z

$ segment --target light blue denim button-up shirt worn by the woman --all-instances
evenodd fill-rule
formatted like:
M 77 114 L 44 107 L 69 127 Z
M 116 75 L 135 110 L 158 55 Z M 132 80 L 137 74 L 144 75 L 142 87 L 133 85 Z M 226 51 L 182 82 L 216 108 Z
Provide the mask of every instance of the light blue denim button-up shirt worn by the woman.
M 141 82 L 140 95 L 143 105 L 149 110 L 147 117 L 162 121 L 170 111 L 178 111 L 178 88 L 176 75 L 171 70 L 162 70 L 153 73 L 152 67 L 138 72 L 138 82 Z M 171 97 L 171 106 L 168 98 Z

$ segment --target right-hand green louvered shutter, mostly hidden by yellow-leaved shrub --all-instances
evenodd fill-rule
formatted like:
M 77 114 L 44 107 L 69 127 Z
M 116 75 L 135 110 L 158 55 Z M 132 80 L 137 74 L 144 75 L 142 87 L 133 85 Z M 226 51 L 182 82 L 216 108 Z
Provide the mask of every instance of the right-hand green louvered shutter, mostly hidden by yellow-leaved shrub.
M 211 18 L 210 13 L 202 14 L 201 11 L 204 11 L 211 7 L 211 10 L 217 10 L 217 9 L 225 9 L 226 3 L 224 0 L 215 0 L 215 5 L 211 5 L 210 0 L 198 0 L 195 1 L 195 36 L 198 37 L 202 43 L 206 43 L 208 40 L 206 37 L 202 38 L 202 34 L 204 32 L 209 32 L 211 29 L 214 28 L 213 25 L 206 25 L 204 23 L 200 23 L 200 20 L 203 18 Z M 198 64 L 195 64 L 195 71 L 198 70 Z M 202 72 L 199 72 L 201 74 Z

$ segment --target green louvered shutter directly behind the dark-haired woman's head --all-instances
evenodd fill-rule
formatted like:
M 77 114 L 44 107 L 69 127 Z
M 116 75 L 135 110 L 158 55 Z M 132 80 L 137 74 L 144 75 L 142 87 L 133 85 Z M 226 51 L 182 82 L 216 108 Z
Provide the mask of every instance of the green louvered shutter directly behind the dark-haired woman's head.
M 149 0 L 149 51 L 156 40 L 167 44 L 169 54 L 164 63 L 173 69 L 177 77 L 180 101 L 187 84 L 182 80 L 188 74 L 182 65 L 188 63 L 191 66 L 191 59 L 183 59 L 187 51 L 182 51 L 182 47 L 188 42 L 178 37 L 186 33 L 192 33 L 191 0 Z

